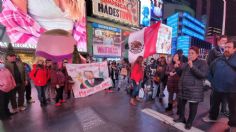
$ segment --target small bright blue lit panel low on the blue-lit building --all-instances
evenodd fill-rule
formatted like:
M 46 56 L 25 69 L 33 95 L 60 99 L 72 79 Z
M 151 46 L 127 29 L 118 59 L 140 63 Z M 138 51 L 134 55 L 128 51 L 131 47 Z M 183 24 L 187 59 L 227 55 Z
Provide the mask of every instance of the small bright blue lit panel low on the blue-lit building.
M 182 49 L 183 54 L 188 56 L 188 51 L 190 47 L 190 37 L 189 36 L 179 36 L 177 39 L 177 50 Z

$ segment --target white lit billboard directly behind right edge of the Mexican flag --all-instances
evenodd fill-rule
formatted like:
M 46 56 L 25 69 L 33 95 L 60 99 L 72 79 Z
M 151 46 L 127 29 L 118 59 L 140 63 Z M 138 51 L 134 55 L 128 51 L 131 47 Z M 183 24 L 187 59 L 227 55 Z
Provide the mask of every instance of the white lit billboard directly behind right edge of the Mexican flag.
M 171 54 L 172 28 L 161 24 L 158 31 L 156 50 L 159 54 Z

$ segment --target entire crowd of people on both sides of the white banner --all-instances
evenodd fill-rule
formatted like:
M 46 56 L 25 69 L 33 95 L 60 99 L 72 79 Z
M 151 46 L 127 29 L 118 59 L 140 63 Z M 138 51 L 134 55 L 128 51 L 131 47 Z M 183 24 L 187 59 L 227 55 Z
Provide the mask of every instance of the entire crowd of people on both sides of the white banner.
M 221 106 L 221 112 L 229 117 L 231 130 L 235 130 L 236 42 L 228 40 L 227 36 L 219 37 L 217 46 L 209 52 L 207 60 L 199 57 L 199 48 L 195 46 L 190 47 L 188 53 L 186 57 L 182 50 L 178 50 L 171 59 L 164 56 L 145 59 L 139 56 L 133 64 L 128 60 L 120 63 L 109 61 L 108 71 L 114 85 L 106 89 L 106 92 L 114 92 L 114 88 L 117 91 L 125 89 L 131 96 L 130 104 L 136 106 L 141 98 L 158 98 L 162 103 L 167 96 L 164 94 L 167 88 L 168 106 L 165 110 L 172 111 L 176 106 L 179 118 L 174 121 L 183 122 L 186 129 L 191 129 L 198 105 L 204 99 L 205 85 L 208 84 L 212 90 L 210 110 L 209 116 L 203 120 L 216 122 Z M 63 60 L 59 66 L 58 63 L 39 58 L 31 70 L 16 54 L 8 53 L 6 61 L 0 65 L 0 118 L 7 119 L 12 114 L 24 111 L 25 98 L 28 103 L 34 103 L 31 97 L 31 80 L 37 89 L 42 107 L 54 98 L 55 106 L 61 106 L 65 102 L 63 93 L 66 93 L 67 98 L 73 95 L 74 82 L 67 74 L 67 63 L 68 60 Z M 8 109 L 9 100 L 11 112 Z M 187 103 L 189 114 L 186 119 Z

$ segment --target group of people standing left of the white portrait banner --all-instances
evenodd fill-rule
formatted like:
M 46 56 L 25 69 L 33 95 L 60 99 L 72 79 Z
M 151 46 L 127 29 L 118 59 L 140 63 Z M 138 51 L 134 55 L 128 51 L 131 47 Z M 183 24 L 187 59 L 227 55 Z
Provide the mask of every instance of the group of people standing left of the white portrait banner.
M 0 119 L 10 119 L 11 115 L 24 111 L 25 102 L 35 103 L 31 97 L 32 86 L 37 90 L 42 107 L 53 100 L 55 106 L 61 106 L 65 103 L 64 93 L 67 99 L 71 98 L 74 82 L 67 74 L 67 63 L 66 59 L 58 63 L 38 57 L 31 69 L 14 51 L 8 52 L 5 61 L 0 61 Z M 8 108 L 9 102 L 12 106 L 11 112 Z

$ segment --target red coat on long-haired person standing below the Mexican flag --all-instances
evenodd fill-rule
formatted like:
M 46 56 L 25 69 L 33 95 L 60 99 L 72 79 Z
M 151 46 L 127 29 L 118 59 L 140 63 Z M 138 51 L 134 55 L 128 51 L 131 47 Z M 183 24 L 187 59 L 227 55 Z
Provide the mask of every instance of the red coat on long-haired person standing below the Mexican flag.
M 139 64 L 134 64 L 134 67 L 131 72 L 131 79 L 134 80 L 136 83 L 139 83 L 143 80 L 143 68 L 139 66 Z

